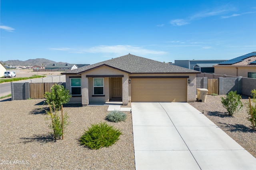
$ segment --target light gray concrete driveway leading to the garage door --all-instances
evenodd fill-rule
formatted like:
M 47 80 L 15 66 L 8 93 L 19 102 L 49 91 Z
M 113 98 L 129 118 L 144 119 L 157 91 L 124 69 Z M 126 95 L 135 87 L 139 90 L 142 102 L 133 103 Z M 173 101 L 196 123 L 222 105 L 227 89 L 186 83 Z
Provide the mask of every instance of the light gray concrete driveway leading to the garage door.
M 136 170 L 256 170 L 256 158 L 188 103 L 132 103 Z

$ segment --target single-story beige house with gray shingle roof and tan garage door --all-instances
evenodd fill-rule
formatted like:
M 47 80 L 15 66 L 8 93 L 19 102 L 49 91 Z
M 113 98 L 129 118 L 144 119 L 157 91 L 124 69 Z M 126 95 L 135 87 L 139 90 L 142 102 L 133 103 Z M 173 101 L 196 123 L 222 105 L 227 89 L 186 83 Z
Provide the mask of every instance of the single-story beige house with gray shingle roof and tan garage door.
M 196 74 L 200 72 L 135 55 L 124 55 L 75 70 L 66 75 L 70 103 L 112 99 L 128 102 L 195 101 Z

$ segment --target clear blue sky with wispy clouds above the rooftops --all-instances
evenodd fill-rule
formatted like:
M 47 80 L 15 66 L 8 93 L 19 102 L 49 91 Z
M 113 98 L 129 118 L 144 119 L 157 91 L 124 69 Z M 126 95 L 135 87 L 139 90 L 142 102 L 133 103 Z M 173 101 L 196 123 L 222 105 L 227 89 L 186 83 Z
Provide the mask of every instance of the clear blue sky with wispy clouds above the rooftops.
M 256 51 L 256 0 L 1 0 L 0 60 L 161 62 Z

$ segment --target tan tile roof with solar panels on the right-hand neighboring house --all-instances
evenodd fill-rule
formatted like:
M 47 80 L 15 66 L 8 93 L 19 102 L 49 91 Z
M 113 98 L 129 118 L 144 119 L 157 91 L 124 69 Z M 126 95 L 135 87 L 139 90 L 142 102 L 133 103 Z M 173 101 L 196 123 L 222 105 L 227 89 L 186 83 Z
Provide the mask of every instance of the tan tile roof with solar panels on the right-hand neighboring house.
M 256 52 L 248 53 L 247 56 L 248 56 L 247 58 L 241 59 L 242 61 L 239 61 L 239 62 L 234 63 L 234 64 L 221 64 L 220 63 L 220 64 L 218 64 L 216 66 L 248 66 L 248 67 L 256 67 L 256 64 L 254 64 L 254 62 L 256 61 Z M 242 56 L 240 56 L 240 57 L 242 57 Z M 235 60 L 235 59 L 236 58 L 231 59 L 231 60 Z

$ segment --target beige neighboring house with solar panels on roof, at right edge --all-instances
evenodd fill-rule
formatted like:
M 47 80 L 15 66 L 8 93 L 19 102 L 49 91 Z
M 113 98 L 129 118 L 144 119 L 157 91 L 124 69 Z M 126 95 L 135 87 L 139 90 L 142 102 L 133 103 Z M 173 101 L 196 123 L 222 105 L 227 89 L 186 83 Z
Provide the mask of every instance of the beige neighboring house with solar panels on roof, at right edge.
M 256 52 L 222 62 L 214 66 L 215 74 L 256 78 Z

